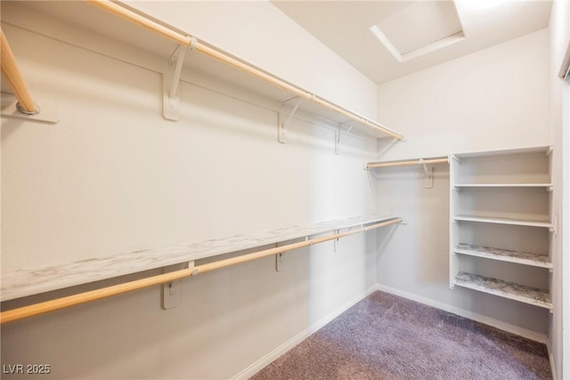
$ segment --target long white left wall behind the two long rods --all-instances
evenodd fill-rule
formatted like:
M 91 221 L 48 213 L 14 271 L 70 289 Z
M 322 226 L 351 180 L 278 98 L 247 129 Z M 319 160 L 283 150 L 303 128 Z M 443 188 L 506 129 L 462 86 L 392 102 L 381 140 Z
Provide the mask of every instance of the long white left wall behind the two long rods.
M 217 17 L 205 4 L 167 4 L 172 12 L 201 9 L 198 20 Z M 32 93 L 58 101 L 62 113 L 58 125 L 2 120 L 3 271 L 374 210 L 362 164 L 374 158 L 376 141 L 346 137 L 335 155 L 333 131 L 294 120 L 289 142 L 279 144 L 279 104 L 223 83 L 209 90 L 192 70 L 183 73 L 181 121 L 167 121 L 157 69 L 164 57 L 21 3 L 2 6 L 2 28 Z M 286 28 L 295 41 L 260 55 L 281 64 L 283 77 L 304 77 L 323 96 L 354 105 L 362 88 L 376 92 L 268 4 L 231 6 L 236 20 L 216 38 L 271 39 Z M 265 33 L 253 33 L 265 16 Z M 202 27 L 204 35 L 214 30 Z M 248 58 L 246 46 L 256 44 L 240 45 L 233 53 L 244 49 Z M 309 53 L 306 46 L 314 55 L 300 64 L 291 51 Z M 339 82 L 328 87 L 330 61 Z M 367 114 L 376 110 L 370 99 L 358 106 Z M 170 311 L 151 287 L 4 325 L 2 364 L 50 364 L 43 378 L 227 378 L 375 283 L 375 234 L 342 239 L 337 253 L 332 247 L 290 253 L 281 272 L 266 258 L 183 281 L 183 302 Z

